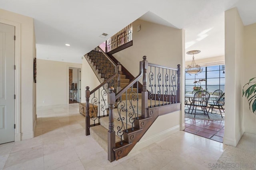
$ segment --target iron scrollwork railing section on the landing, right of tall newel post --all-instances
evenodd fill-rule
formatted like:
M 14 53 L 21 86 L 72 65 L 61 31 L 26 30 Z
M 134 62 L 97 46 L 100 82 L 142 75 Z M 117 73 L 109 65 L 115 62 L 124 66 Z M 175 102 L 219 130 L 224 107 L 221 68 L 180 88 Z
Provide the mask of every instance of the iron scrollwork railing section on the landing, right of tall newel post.
M 148 66 L 148 99 L 150 99 L 150 107 L 178 103 L 177 79 L 179 68 L 153 63 L 148 63 Z

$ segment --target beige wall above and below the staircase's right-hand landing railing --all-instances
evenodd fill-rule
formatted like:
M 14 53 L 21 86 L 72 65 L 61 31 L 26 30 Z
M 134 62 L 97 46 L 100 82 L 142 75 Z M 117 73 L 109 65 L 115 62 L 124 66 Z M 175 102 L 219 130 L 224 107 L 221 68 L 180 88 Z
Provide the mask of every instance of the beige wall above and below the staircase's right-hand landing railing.
M 179 30 L 143 20 L 136 20 L 132 23 L 133 28 L 136 28 L 140 24 L 141 30 L 136 32 L 133 29 L 132 40 L 133 45 L 113 56 L 121 62 L 124 67 L 134 77 L 139 73 L 139 61 L 142 61 L 144 55 L 147 56 L 147 60 L 150 63 L 156 63 L 160 65 L 177 67 L 181 65 L 181 69 L 184 70 L 184 30 Z M 149 72 L 149 71 L 148 71 Z M 184 71 L 181 72 L 181 80 L 184 78 Z M 184 87 L 184 81 L 181 81 L 181 87 Z M 181 89 L 181 99 L 184 100 L 183 90 Z M 147 145 L 154 142 L 155 139 L 159 140 L 166 134 L 171 134 L 177 130 L 184 128 L 184 106 L 182 111 L 177 111 L 167 115 L 158 117 L 153 125 L 148 129 L 146 134 L 140 140 L 140 144 Z

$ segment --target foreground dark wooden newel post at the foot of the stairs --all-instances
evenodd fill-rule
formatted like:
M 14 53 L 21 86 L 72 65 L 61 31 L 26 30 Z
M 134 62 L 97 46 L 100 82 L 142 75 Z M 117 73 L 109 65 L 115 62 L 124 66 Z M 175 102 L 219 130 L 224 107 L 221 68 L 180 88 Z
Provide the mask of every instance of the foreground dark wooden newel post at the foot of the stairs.
M 116 134 L 114 131 L 114 104 L 116 101 L 116 94 L 113 92 L 114 87 L 109 87 L 108 91 L 108 160 L 112 162 L 115 160 L 113 148 L 116 147 Z

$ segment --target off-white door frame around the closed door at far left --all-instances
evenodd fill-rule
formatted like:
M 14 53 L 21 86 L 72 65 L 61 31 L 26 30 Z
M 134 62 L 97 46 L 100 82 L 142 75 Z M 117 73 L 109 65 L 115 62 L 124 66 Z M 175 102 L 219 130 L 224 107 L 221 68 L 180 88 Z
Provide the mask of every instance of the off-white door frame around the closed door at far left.
M 0 18 L 0 23 L 7 24 L 15 27 L 16 40 L 14 41 L 14 64 L 16 70 L 14 71 L 14 93 L 16 99 L 14 100 L 14 123 L 16 128 L 14 129 L 14 140 L 20 140 L 20 23 L 4 20 Z

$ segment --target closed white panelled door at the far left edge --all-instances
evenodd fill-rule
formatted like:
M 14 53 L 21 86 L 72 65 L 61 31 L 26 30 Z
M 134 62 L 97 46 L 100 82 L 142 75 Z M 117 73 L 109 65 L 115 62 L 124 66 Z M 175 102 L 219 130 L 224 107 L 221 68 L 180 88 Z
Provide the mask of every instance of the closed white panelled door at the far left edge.
M 0 23 L 0 144 L 14 141 L 14 33 Z

